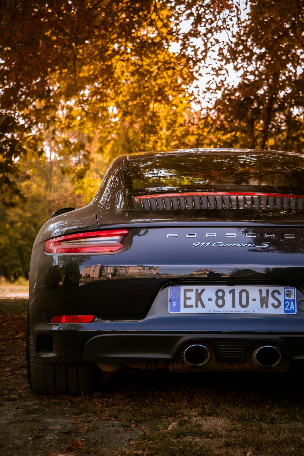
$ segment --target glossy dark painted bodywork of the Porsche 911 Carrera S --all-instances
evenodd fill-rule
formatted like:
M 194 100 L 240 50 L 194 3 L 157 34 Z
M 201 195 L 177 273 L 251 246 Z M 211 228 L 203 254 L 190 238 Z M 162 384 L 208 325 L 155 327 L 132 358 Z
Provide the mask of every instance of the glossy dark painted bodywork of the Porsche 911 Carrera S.
M 175 152 L 198 153 L 212 156 L 214 151 Z M 273 153 L 274 160 L 276 154 L 283 153 Z M 137 156 L 155 154 L 133 159 Z M 114 161 L 92 203 L 51 219 L 37 235 L 29 310 L 41 362 L 171 363 L 187 341 L 203 338 L 212 345 L 217 338 L 229 338 L 277 342 L 289 363 L 303 363 L 304 311 L 293 316 L 169 314 L 167 287 L 285 285 L 294 286 L 298 301 L 304 300 L 304 211 L 140 212 L 131 205 L 120 171 L 128 159 Z M 44 252 L 49 238 L 117 227 L 130 231 L 128 248 L 118 253 Z M 210 244 L 193 247 L 206 241 Z M 84 278 L 83 268 L 93 265 L 100 276 Z M 197 275 L 204 269 L 206 275 Z M 96 318 L 83 324 L 49 323 L 52 316 L 72 314 Z

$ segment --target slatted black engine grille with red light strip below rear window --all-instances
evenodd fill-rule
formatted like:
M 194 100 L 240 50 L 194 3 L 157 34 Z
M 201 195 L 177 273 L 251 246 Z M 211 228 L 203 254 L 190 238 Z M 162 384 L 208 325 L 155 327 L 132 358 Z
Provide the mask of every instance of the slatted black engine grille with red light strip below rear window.
M 274 193 L 163 193 L 134 197 L 140 211 L 184 209 L 270 209 L 304 210 L 304 197 Z

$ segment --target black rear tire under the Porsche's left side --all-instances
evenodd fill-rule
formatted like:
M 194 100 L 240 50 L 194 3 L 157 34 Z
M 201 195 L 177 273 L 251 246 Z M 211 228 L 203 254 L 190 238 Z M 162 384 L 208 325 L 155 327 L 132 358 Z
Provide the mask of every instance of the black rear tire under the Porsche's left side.
M 29 312 L 26 323 L 26 369 L 34 394 L 92 394 L 100 389 L 101 371 L 94 363 L 42 364 L 37 356 Z

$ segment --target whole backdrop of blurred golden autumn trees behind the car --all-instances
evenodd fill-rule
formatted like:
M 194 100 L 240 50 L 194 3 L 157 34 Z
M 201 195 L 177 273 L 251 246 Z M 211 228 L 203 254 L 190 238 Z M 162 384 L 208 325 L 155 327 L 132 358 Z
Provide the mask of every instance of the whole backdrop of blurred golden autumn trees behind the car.
M 117 155 L 302 153 L 303 3 L 2 0 L 0 275 L 26 276 L 41 224 Z

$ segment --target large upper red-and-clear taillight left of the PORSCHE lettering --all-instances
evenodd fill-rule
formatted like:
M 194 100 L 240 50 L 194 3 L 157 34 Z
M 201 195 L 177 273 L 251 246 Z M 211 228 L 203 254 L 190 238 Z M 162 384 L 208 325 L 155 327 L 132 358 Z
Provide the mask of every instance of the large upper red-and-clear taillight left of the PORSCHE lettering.
M 89 231 L 52 238 L 44 243 L 48 254 L 107 253 L 124 248 L 122 238 L 128 229 Z

